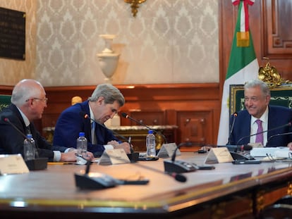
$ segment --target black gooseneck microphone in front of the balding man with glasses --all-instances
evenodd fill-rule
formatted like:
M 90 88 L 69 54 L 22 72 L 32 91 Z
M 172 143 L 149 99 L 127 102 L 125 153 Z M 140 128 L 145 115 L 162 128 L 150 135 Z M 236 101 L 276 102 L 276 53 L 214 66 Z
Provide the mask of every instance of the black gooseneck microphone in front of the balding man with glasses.
M 23 134 L 23 132 L 21 132 L 18 129 L 18 127 L 16 127 L 16 125 L 11 123 L 11 121 L 8 118 L 4 118 L 4 122 L 6 122 L 9 125 L 11 125 L 19 134 L 21 134 L 25 139 L 27 139 L 28 142 L 32 142 L 32 140 L 29 139 L 28 137 L 26 137 L 26 135 Z M 26 165 L 28 166 L 28 169 L 29 170 L 44 170 L 44 169 L 47 169 L 48 158 L 39 158 L 39 154 L 37 153 L 37 150 L 35 150 L 35 155 L 37 156 L 37 158 L 25 161 Z

